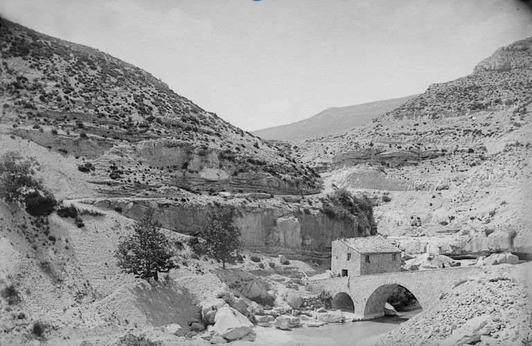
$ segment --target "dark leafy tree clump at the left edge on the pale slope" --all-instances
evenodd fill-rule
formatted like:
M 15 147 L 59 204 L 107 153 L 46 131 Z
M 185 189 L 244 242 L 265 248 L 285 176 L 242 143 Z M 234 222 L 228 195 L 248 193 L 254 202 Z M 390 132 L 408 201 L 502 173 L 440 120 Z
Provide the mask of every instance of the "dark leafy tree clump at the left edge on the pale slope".
M 8 151 L 0 157 L 0 198 L 17 202 L 33 216 L 50 214 L 57 201 L 35 178 L 35 159 Z

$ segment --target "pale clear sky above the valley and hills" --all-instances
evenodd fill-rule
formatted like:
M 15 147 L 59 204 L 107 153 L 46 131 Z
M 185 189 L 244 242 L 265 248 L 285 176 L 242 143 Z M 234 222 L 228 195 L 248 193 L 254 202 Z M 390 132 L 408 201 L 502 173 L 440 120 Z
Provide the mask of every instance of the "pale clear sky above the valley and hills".
M 0 0 L 0 15 L 141 67 L 243 130 L 418 94 L 532 36 L 517 0 Z

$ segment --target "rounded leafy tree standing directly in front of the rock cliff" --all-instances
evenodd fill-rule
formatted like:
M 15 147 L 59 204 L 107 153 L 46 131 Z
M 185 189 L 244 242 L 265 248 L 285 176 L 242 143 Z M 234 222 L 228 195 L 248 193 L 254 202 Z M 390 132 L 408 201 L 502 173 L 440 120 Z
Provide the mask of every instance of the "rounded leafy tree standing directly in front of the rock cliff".
M 233 225 L 234 214 L 235 210 L 228 207 L 213 211 L 202 232 L 204 251 L 207 256 L 222 262 L 223 269 L 226 262 L 236 259 L 238 250 L 242 248 L 240 230 Z

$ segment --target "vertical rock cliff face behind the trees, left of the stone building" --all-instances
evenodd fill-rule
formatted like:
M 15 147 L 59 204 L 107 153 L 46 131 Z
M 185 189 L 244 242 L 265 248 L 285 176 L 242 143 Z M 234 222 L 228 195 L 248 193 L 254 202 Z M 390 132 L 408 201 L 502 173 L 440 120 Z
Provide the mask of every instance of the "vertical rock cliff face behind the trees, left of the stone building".
M 248 202 L 240 198 L 215 199 L 214 204 L 199 198 L 188 202 L 120 198 L 87 202 L 98 207 L 118 208 L 124 216 L 135 220 L 142 218 L 146 209 L 153 208 L 154 216 L 163 227 L 189 235 L 199 235 L 202 232 L 213 209 L 231 205 L 236 207 L 234 221 L 242 232 L 244 247 L 274 254 L 326 257 L 330 256 L 331 242 L 338 237 L 370 234 L 366 216 L 360 215 L 351 219 L 330 218 L 321 212 L 319 202 L 313 202 L 313 207 L 305 205 L 304 202 L 281 202 L 277 199 Z

